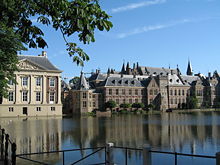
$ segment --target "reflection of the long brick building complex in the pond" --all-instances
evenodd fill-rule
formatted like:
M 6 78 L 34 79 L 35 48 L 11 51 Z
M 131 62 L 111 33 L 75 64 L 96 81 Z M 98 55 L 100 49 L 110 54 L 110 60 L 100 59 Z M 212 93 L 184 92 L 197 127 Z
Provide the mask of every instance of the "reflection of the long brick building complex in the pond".
M 140 148 L 148 143 L 160 150 L 193 154 L 205 152 L 207 141 L 219 145 L 219 115 L 217 112 L 198 112 L 81 117 L 69 136 L 79 147 L 103 146 L 113 142 L 116 146 Z

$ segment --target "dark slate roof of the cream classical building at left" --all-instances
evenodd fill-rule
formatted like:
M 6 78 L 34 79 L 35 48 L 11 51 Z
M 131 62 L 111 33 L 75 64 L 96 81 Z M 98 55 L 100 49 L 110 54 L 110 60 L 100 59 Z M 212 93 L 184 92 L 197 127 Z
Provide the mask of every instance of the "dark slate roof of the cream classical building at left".
M 46 70 L 53 70 L 53 71 L 61 71 L 56 68 L 47 57 L 44 56 L 29 56 L 29 55 L 18 55 L 18 60 L 28 60 L 33 64 L 36 64 Z

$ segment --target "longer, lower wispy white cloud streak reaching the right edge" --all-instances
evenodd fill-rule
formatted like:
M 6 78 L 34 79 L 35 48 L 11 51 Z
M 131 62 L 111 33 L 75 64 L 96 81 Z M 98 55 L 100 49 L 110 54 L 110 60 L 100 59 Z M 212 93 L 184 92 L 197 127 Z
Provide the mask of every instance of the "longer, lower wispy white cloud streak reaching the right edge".
M 220 19 L 220 17 L 182 19 L 182 20 L 172 21 L 172 22 L 164 23 L 164 24 L 143 26 L 143 27 L 135 28 L 135 29 L 133 29 L 131 31 L 128 31 L 128 32 L 119 33 L 116 36 L 116 38 L 121 39 L 121 38 L 126 38 L 128 36 L 132 36 L 132 35 L 135 35 L 135 34 L 140 34 L 140 33 L 145 33 L 145 32 L 149 32 L 149 31 L 165 29 L 165 28 L 177 26 L 177 25 L 180 25 L 180 24 L 185 24 L 185 23 L 190 23 L 190 22 L 201 22 L 201 21 L 207 21 L 207 20 L 213 20 L 213 19 Z

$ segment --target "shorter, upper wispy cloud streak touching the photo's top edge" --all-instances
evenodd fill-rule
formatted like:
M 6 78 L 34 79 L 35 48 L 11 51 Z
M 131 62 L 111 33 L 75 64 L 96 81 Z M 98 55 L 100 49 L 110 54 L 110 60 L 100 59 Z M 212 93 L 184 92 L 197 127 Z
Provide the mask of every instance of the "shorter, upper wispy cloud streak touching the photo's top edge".
M 132 3 L 126 6 L 113 8 L 111 9 L 111 13 L 119 13 L 119 12 L 133 10 L 133 9 L 144 7 L 144 6 L 157 5 L 157 4 L 165 3 L 166 1 L 167 0 L 151 0 L 151 1 L 144 1 L 144 2 L 139 2 L 139 3 Z

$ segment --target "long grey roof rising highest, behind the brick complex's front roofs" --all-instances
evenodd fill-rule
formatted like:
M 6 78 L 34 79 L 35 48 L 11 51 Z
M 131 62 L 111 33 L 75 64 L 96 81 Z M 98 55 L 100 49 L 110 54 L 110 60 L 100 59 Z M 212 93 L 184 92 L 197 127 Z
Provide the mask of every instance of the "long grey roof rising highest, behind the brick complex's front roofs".
M 165 76 L 171 73 L 171 70 L 173 70 L 173 74 L 177 74 L 177 69 L 155 68 L 155 67 L 145 67 L 145 66 L 140 66 L 139 69 L 143 75 L 164 75 Z

